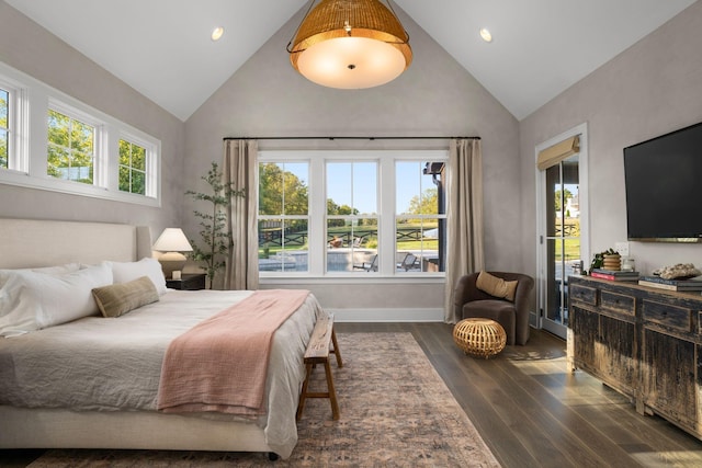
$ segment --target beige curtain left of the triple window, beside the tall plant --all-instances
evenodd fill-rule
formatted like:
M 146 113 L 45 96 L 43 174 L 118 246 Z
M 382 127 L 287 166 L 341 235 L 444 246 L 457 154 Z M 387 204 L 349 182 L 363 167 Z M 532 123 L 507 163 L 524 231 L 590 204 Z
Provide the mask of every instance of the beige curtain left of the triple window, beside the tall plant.
M 259 287 L 259 239 L 257 205 L 259 186 L 257 140 L 225 140 L 222 172 L 226 183 L 245 196 L 231 199 L 227 216 L 227 229 L 231 232 L 234 247 L 225 269 L 225 289 L 258 289 Z

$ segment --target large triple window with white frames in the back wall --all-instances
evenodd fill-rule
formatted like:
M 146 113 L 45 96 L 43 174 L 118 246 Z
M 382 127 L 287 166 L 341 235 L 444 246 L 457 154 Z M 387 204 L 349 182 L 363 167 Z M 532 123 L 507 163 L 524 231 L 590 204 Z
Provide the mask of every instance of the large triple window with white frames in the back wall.
M 445 159 L 443 150 L 261 151 L 261 276 L 441 274 Z

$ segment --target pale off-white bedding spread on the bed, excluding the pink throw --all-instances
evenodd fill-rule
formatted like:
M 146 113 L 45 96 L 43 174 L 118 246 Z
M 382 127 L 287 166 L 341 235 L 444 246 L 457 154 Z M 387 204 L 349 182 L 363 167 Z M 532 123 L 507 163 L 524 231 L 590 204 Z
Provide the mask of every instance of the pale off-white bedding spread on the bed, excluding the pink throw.
M 250 294 L 169 290 L 158 303 L 118 318 L 88 317 L 0 339 L 0 404 L 156 412 L 161 362 L 170 341 Z M 295 410 L 305 378 L 302 357 L 318 313 L 324 312 L 310 295 L 273 340 L 268 415 L 256 423 L 264 429 L 268 445 L 283 457 L 297 442 Z

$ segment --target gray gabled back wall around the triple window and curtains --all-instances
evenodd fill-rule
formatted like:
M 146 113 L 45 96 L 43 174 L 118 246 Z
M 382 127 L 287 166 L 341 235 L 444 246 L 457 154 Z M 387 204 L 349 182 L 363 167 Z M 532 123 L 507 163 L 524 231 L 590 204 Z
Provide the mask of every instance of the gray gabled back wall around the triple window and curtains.
M 301 21 L 293 18 L 264 44 L 185 125 L 185 184 L 219 162 L 227 136 L 480 136 L 485 182 L 486 266 L 514 270 L 520 254 L 518 122 L 469 73 L 408 16 L 415 61 L 397 80 L 369 90 L 333 90 L 307 81 L 290 65 L 285 45 Z M 416 145 L 414 142 L 412 145 Z M 432 147 L 448 148 L 448 141 Z M 397 148 L 398 141 L 260 141 L 260 149 Z M 426 147 L 422 145 L 422 147 Z M 193 204 L 185 202 L 184 212 Z M 190 232 L 195 220 L 184 219 Z M 285 285 L 276 285 L 285 287 Z M 442 308 L 443 285 L 296 283 L 330 308 Z M 387 299 L 392 298 L 392 299 Z M 378 304 L 384 304 L 380 306 Z

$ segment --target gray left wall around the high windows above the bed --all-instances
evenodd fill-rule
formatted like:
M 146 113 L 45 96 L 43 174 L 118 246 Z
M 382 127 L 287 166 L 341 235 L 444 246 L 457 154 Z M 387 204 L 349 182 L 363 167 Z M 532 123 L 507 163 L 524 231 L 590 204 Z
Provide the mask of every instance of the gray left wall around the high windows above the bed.
M 0 1 L 0 60 L 161 140 L 161 208 L 0 184 L 0 218 L 125 222 L 151 236 L 182 219 L 184 124 Z

